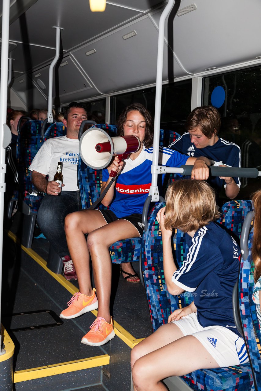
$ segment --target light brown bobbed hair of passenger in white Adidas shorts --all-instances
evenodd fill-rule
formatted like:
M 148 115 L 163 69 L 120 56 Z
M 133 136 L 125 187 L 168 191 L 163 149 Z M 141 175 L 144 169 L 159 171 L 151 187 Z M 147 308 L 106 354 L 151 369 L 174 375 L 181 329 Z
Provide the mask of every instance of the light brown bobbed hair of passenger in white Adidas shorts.
M 215 192 L 204 181 L 180 179 L 167 188 L 165 227 L 199 230 L 220 217 Z

